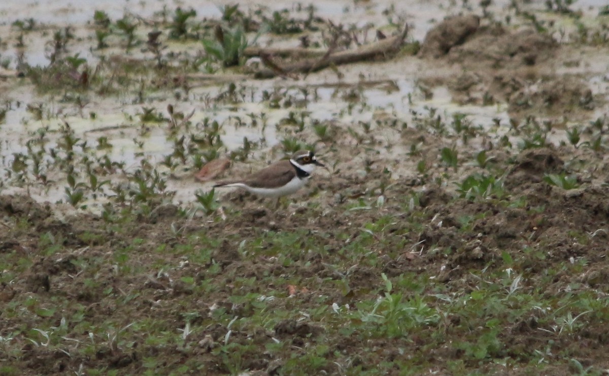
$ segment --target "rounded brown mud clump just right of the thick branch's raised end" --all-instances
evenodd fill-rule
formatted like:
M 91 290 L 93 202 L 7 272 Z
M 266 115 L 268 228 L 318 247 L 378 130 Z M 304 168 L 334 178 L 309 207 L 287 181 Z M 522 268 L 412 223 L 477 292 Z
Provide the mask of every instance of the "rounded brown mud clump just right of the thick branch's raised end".
M 433 59 L 446 55 L 454 46 L 474 34 L 479 26 L 480 18 L 475 15 L 447 18 L 429 30 L 419 55 Z

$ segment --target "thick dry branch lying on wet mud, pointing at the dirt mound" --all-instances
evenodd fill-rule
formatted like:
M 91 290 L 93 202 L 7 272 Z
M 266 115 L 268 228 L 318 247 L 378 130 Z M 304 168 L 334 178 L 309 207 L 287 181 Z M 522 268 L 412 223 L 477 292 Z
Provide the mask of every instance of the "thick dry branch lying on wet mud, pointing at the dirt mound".
M 314 71 L 320 71 L 323 68 L 327 68 L 331 65 L 343 65 L 349 63 L 361 62 L 363 60 L 374 59 L 378 56 L 385 56 L 387 54 L 396 52 L 402 43 L 404 38 L 408 34 L 408 26 L 404 27 L 403 32 L 394 37 L 379 40 L 375 43 L 366 44 L 355 50 L 340 51 L 331 53 L 327 57 L 323 56 L 322 59 L 306 59 L 301 62 L 293 63 L 287 66 L 281 67 L 281 72 L 284 74 L 290 73 L 310 73 Z M 257 79 L 270 79 L 278 76 L 278 72 L 275 69 L 261 69 L 254 74 Z

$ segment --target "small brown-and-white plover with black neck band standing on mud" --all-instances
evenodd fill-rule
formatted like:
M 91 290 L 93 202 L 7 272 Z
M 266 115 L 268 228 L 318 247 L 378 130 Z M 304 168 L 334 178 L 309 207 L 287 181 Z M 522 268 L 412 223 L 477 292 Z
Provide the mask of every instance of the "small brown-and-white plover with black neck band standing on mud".
M 279 199 L 305 186 L 315 166 L 325 168 L 309 150 L 297 151 L 289 160 L 280 160 L 244 179 L 217 182 L 214 188 L 236 186 L 256 196 Z

